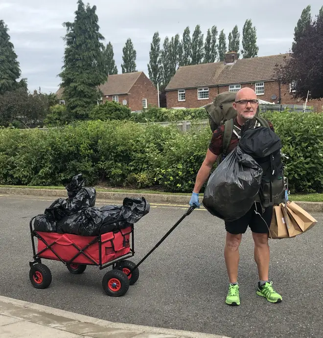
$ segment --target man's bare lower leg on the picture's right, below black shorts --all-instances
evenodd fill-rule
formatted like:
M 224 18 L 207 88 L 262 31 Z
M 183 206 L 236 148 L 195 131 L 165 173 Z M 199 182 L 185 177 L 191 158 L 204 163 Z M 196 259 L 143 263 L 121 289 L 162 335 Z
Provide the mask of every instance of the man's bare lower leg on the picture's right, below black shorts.
M 254 238 L 254 260 L 257 264 L 259 280 L 269 280 L 269 245 L 268 233 L 255 233 Z

